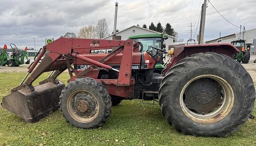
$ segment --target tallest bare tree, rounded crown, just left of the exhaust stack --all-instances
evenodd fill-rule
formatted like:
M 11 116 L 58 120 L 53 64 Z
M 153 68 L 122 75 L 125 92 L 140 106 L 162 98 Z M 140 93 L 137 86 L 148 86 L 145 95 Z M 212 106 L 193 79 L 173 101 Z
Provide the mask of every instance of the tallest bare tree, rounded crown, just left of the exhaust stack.
M 98 21 L 96 25 L 96 35 L 100 39 L 108 36 L 108 24 L 105 18 Z

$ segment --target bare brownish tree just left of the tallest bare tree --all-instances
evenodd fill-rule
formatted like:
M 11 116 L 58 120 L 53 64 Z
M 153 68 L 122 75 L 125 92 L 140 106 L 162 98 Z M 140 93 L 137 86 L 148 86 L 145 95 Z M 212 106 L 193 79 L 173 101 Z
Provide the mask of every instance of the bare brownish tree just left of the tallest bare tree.
M 96 38 L 96 27 L 94 25 L 88 25 L 80 28 L 78 38 Z

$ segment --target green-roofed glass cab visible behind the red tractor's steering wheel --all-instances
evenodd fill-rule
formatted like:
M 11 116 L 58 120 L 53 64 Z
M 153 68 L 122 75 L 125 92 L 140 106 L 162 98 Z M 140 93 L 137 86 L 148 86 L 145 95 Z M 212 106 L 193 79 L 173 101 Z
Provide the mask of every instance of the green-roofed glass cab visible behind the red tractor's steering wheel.
M 161 73 L 164 69 L 164 59 L 165 59 L 165 42 L 168 39 L 166 34 L 146 34 L 146 35 L 133 35 L 129 37 L 134 42 L 140 42 L 142 47 L 140 47 L 139 52 L 147 52 L 156 60 L 155 72 Z

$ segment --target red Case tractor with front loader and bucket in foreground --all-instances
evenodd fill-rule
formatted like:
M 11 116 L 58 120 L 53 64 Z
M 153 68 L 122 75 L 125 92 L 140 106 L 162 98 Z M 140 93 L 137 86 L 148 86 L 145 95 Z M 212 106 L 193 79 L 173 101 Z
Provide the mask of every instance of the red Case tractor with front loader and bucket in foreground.
M 197 136 L 225 137 L 252 118 L 255 88 L 249 73 L 232 59 L 239 52 L 235 46 L 177 46 L 168 52 L 150 46 L 142 53 L 141 48 L 142 43 L 131 39 L 59 38 L 43 47 L 2 106 L 28 123 L 60 108 L 69 123 L 87 129 L 106 122 L 112 103 L 159 99 L 168 123 Z M 112 52 L 92 54 L 94 50 Z M 172 58 L 156 74 L 154 67 L 163 54 Z M 56 77 L 66 69 L 70 79 L 65 86 Z M 48 71 L 54 72 L 32 85 Z

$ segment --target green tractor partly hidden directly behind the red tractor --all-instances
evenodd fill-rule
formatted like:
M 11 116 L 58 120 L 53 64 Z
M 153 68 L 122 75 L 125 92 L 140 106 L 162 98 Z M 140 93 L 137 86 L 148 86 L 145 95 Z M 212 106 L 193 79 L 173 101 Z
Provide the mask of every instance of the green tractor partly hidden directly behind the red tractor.
M 146 35 L 133 35 L 130 36 L 129 39 L 132 39 L 135 42 L 141 42 L 142 48 L 140 48 L 140 52 L 145 52 L 147 50 L 154 50 L 151 47 L 158 48 L 160 50 L 165 50 L 166 45 L 164 40 L 168 39 L 168 35 L 166 34 L 146 34 Z M 150 49 L 151 48 L 151 49 Z M 159 51 L 160 52 L 160 51 Z M 158 52 L 158 54 L 159 54 Z M 154 68 L 155 76 L 158 76 L 161 74 L 161 72 L 164 69 L 164 59 L 165 54 L 163 54 L 159 60 L 156 62 L 156 66 Z

